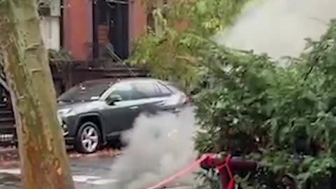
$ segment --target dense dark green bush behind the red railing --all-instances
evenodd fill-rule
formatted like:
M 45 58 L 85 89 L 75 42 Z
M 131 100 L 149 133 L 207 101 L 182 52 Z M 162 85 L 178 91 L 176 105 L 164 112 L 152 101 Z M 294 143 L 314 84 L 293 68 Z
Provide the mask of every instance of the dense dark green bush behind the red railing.
M 336 168 L 336 21 L 308 42 L 309 52 L 286 67 L 253 52 L 197 52 L 207 67 L 195 96 L 207 130 L 198 134 L 197 150 L 258 160 L 267 169 L 239 180 L 244 188 L 278 188 L 284 175 L 328 188 L 321 183 Z

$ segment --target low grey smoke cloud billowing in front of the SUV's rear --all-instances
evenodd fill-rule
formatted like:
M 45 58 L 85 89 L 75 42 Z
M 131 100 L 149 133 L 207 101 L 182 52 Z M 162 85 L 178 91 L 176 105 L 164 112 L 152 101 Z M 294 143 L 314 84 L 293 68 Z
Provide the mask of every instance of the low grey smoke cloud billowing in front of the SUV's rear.
M 197 155 L 193 145 L 195 125 L 193 109 L 186 109 L 179 116 L 141 115 L 134 129 L 123 135 L 129 146 L 112 165 L 111 178 L 118 183 L 108 188 L 144 189 L 190 165 Z M 194 177 L 183 176 L 179 183 L 191 184 Z

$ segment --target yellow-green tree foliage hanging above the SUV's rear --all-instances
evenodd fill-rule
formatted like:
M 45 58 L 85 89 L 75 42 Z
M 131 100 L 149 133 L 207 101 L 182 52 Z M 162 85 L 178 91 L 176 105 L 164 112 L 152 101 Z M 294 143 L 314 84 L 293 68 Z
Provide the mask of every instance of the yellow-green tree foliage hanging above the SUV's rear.
M 155 17 L 161 23 L 162 33 L 150 30 L 139 38 L 130 62 L 146 65 L 155 78 L 179 82 L 193 90 L 200 79 L 200 67 L 190 62 L 189 57 L 197 56 L 197 51 L 207 47 L 205 43 L 209 36 L 230 25 L 247 1 L 169 1 L 165 6 L 165 17 L 160 14 Z M 148 6 L 155 2 L 145 0 Z M 160 7 L 155 10 L 158 9 Z M 188 23 L 188 27 L 181 29 L 181 22 Z

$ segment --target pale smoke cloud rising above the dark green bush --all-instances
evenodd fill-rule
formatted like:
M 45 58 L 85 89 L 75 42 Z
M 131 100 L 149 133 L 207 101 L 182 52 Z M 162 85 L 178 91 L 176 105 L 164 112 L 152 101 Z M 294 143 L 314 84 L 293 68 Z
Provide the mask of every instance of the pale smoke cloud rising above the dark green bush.
M 318 39 L 336 18 L 335 0 L 267 0 L 246 6 L 236 24 L 214 37 L 219 44 L 266 52 L 270 57 L 298 57 L 304 38 Z

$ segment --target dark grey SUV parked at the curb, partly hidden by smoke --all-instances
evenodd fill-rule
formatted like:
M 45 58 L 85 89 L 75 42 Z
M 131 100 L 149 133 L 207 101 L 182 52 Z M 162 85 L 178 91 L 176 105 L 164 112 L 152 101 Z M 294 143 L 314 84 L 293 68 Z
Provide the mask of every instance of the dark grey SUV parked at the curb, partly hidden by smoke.
M 57 101 L 66 144 L 80 153 L 94 153 L 118 139 L 140 113 L 177 113 L 189 104 L 188 96 L 172 83 L 153 78 L 88 80 Z

